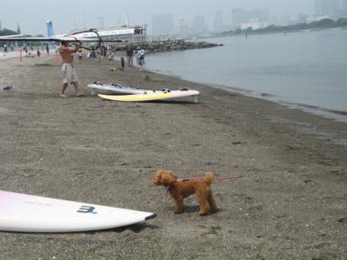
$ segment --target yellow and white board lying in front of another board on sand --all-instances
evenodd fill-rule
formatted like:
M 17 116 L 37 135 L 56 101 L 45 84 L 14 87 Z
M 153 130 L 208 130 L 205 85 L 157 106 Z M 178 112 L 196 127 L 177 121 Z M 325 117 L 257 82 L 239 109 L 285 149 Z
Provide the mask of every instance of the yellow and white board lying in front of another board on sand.
M 98 97 L 108 99 L 108 100 L 114 100 L 114 101 L 140 102 L 140 101 L 161 100 L 161 99 L 168 99 L 168 98 L 183 98 L 183 97 L 195 96 L 198 94 L 199 94 L 199 91 L 197 90 L 172 90 L 170 92 L 158 91 L 155 93 L 148 93 L 148 94 L 122 95 L 122 96 L 98 94 Z

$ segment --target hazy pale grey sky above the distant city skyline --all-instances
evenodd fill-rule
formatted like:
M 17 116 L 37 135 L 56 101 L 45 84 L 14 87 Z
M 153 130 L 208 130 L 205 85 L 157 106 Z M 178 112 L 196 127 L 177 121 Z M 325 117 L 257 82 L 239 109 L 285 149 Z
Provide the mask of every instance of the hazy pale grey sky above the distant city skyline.
M 222 14 L 225 24 L 230 24 L 234 8 L 267 8 L 270 16 L 288 14 L 295 18 L 298 13 L 313 14 L 314 0 L 11 0 L 2 3 L 0 21 L 3 28 L 11 30 L 19 23 L 23 33 L 32 35 L 45 35 L 47 20 L 52 20 L 56 33 L 65 33 L 98 27 L 98 17 L 103 17 L 107 27 L 117 26 L 125 23 L 127 14 L 130 25 L 149 26 L 155 14 L 173 14 L 174 23 L 182 18 L 190 23 L 194 15 L 204 15 L 211 28 L 217 12 Z

